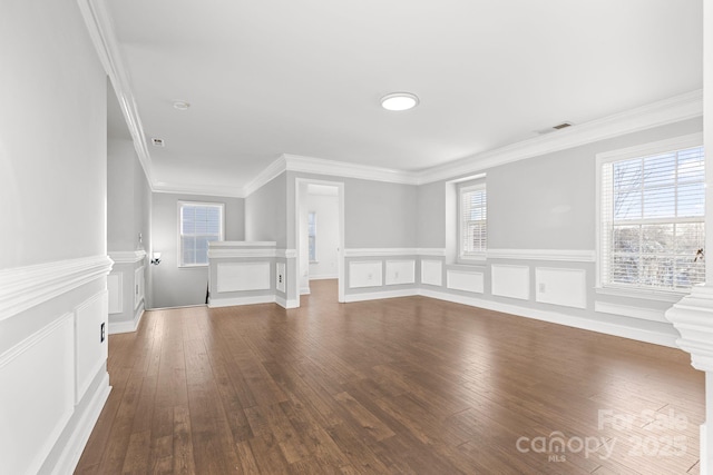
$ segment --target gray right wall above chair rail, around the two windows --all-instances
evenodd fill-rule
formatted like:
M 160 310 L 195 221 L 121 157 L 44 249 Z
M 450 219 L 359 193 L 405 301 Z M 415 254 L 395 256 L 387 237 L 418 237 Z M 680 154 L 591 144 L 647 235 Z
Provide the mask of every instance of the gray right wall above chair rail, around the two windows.
M 596 154 L 702 130 L 701 119 L 480 170 L 487 172 L 488 248 L 594 249 Z M 453 177 L 456 179 L 458 177 Z M 446 181 L 419 187 L 418 246 L 447 246 Z

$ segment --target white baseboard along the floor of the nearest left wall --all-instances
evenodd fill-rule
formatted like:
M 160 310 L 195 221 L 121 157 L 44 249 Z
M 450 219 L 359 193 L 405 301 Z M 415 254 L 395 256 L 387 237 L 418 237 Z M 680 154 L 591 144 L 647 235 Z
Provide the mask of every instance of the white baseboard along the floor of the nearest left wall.
M 91 396 L 84 414 L 77 422 L 75 431 L 69 436 L 67 445 L 65 445 L 61 454 L 59 455 L 57 465 L 52 468 L 52 474 L 70 474 L 75 468 L 77 468 L 81 453 L 87 445 L 87 441 L 89 441 L 94 426 L 99 419 L 99 415 L 101 414 L 101 409 L 104 408 L 110 392 L 111 386 L 109 386 L 109 374 L 105 373 L 101 378 L 101 383 Z

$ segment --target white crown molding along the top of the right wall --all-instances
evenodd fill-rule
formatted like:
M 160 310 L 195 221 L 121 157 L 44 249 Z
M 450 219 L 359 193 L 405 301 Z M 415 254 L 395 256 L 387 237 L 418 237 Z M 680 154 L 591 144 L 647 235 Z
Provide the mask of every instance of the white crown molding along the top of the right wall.
M 701 116 L 703 116 L 703 90 L 699 89 L 602 119 L 573 126 L 556 133 L 535 137 L 491 151 L 427 168 L 417 174 L 417 185 L 472 174 L 499 165 L 566 150 Z

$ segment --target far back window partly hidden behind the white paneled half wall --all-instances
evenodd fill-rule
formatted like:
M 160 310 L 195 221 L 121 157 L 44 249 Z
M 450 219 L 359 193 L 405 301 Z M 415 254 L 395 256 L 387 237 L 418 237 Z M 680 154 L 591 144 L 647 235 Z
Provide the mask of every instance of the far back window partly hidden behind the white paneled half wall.
M 180 267 L 208 265 L 208 243 L 223 240 L 223 204 L 178 202 Z

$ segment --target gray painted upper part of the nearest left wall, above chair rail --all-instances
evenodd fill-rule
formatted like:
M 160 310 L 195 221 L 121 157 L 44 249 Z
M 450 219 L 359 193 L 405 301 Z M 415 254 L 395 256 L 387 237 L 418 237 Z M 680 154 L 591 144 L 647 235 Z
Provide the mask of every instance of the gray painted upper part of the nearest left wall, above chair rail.
M 106 75 L 76 2 L 42 14 L 12 3 L 0 20 L 0 269 L 106 254 Z

